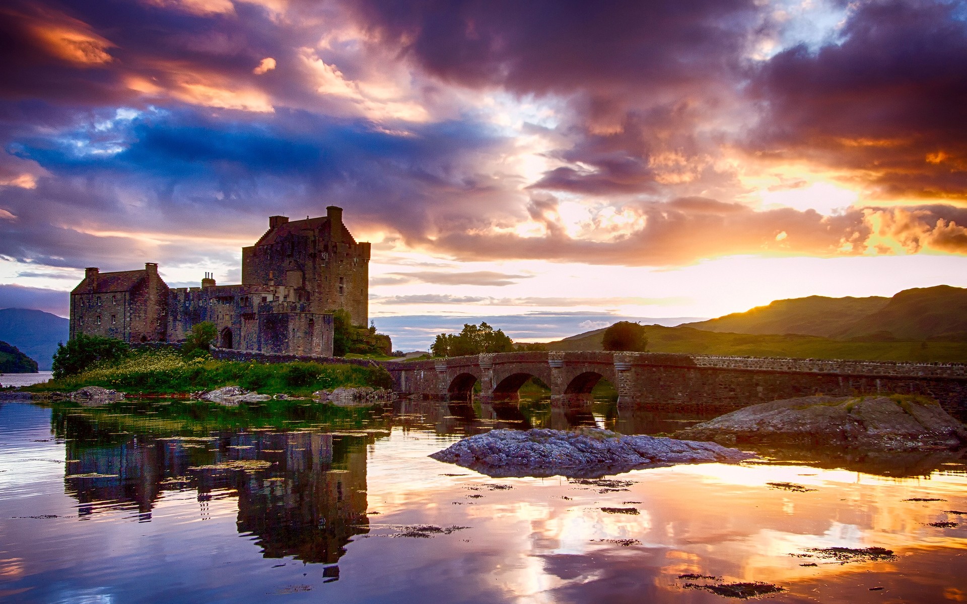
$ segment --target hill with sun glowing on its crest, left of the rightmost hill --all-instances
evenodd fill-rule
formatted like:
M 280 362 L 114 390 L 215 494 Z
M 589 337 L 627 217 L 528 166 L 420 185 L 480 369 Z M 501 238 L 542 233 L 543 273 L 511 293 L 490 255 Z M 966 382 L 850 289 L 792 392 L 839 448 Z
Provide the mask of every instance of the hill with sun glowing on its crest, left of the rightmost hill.
M 967 290 L 963 290 L 967 291 Z M 682 327 L 729 333 L 801 333 L 834 337 L 849 331 L 864 318 L 883 309 L 889 298 L 826 298 L 809 296 L 777 300 L 746 312 L 734 312 L 718 319 L 689 323 Z M 921 339 L 921 338 L 914 338 Z

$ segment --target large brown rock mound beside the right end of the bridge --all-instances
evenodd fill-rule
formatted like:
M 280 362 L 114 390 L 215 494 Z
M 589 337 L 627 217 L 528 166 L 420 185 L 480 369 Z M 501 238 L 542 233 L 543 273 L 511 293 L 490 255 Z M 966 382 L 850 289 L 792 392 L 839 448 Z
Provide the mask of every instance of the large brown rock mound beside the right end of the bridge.
M 675 433 L 698 441 L 844 446 L 888 451 L 959 448 L 967 429 L 914 396 L 804 396 L 752 405 Z

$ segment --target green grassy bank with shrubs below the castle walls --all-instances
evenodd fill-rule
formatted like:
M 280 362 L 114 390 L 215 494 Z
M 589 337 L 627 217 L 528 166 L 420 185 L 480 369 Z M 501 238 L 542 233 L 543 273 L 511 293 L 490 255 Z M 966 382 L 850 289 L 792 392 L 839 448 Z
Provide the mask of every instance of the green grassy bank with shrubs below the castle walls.
M 130 394 L 174 394 L 240 386 L 263 394 L 306 396 L 315 390 L 338 387 L 389 388 L 391 381 L 390 374 L 381 367 L 316 362 L 260 364 L 211 357 L 188 360 L 175 351 L 157 350 L 134 352 L 116 363 L 25 389 L 70 391 L 85 386 Z

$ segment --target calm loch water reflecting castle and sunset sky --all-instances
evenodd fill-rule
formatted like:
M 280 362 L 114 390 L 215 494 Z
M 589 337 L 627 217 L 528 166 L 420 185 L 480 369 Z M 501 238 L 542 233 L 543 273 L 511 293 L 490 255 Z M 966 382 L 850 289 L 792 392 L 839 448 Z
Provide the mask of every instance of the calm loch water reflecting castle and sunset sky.
M 2 402 L 0 599 L 721 602 L 686 584 L 766 582 L 785 590 L 776 602 L 967 600 L 967 515 L 945 511 L 967 510 L 967 466 L 951 455 L 776 451 L 619 484 L 494 479 L 426 456 L 492 427 L 694 419 L 541 401 Z M 928 524 L 940 521 L 957 526 Z M 896 558 L 805 557 L 871 546 Z

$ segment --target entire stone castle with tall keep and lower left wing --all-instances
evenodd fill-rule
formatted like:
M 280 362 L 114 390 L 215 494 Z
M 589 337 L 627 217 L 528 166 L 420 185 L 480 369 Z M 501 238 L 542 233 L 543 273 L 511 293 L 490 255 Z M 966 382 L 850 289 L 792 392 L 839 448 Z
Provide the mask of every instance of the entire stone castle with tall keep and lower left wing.
M 269 230 L 242 248 L 242 284 L 169 288 L 158 265 L 140 271 L 86 270 L 71 292 L 76 333 L 126 342 L 180 342 L 209 321 L 220 348 L 291 355 L 333 355 L 334 310 L 354 325 L 368 321 L 369 244 L 356 243 L 342 209 L 289 220 L 269 216 Z

